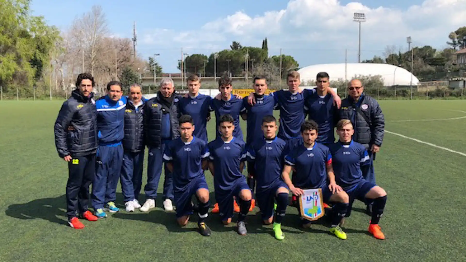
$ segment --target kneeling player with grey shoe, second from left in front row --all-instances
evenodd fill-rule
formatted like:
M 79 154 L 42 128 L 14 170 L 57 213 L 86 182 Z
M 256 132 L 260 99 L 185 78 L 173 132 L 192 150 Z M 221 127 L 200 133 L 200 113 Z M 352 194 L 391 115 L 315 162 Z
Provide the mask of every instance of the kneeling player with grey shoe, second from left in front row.
M 234 119 L 230 115 L 218 118 L 221 137 L 209 143 L 209 169 L 213 175 L 215 199 L 222 222 L 227 225 L 233 217 L 233 197 L 240 202 L 238 233 L 247 233 L 245 219 L 251 206 L 251 190 L 241 173 L 246 159 L 246 144 L 233 137 Z

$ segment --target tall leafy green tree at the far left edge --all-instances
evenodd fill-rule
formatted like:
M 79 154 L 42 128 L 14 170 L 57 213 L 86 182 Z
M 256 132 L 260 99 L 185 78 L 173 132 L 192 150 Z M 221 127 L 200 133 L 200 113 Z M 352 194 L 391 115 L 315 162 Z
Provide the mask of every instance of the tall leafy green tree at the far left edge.
M 0 0 L 0 85 L 30 86 L 49 65 L 58 30 L 30 15 L 30 0 Z

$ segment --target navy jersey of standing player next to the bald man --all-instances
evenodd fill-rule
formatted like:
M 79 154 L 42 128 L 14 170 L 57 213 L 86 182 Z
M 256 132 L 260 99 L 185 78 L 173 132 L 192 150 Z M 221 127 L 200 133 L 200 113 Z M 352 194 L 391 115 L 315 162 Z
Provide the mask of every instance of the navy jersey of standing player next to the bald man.
M 307 111 L 308 119 L 314 120 L 319 126 L 319 136 L 316 142 L 330 145 L 335 142 L 334 117 L 336 107 L 333 105 L 333 97 L 330 94 L 319 96 L 314 93 L 306 98 L 304 110 Z

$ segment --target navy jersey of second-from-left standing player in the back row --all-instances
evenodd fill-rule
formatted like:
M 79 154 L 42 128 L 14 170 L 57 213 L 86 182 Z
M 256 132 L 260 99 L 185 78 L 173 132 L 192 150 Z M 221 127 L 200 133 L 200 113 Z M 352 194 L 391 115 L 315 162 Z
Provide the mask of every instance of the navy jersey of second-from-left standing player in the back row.
M 240 127 L 240 115 L 245 112 L 243 105 L 243 99 L 238 99 L 235 96 L 231 96 L 230 100 L 225 101 L 223 99 L 212 99 L 210 103 L 210 110 L 215 112 L 216 124 L 215 129 L 217 130 L 216 138 L 220 138 L 221 134 L 219 131 L 220 117 L 229 114 L 233 117 L 234 131 L 233 137 L 243 140 L 243 131 Z

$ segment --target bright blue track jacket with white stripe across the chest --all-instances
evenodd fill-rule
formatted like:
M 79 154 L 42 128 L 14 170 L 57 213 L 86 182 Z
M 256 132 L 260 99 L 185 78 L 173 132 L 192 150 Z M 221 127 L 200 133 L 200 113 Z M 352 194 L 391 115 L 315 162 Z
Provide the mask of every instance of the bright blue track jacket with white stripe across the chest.
M 113 101 L 104 96 L 97 99 L 97 130 L 99 145 L 112 145 L 120 143 L 124 137 L 124 110 L 127 98 Z

